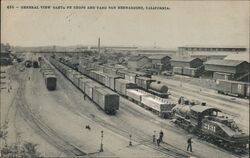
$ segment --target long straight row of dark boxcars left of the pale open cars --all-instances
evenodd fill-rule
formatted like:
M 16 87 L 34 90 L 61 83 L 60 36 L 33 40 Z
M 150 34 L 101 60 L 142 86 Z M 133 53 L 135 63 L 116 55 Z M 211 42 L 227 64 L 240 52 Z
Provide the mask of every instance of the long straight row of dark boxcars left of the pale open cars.
M 119 109 L 119 95 L 53 58 L 50 62 L 107 114 Z

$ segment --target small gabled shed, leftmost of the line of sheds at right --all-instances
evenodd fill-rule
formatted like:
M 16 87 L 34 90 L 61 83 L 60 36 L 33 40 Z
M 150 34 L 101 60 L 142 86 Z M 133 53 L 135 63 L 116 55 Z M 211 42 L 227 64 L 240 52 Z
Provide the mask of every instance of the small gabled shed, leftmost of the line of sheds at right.
M 131 70 L 139 70 L 143 67 L 148 67 L 150 65 L 150 59 L 143 55 L 132 56 L 128 59 L 128 68 Z

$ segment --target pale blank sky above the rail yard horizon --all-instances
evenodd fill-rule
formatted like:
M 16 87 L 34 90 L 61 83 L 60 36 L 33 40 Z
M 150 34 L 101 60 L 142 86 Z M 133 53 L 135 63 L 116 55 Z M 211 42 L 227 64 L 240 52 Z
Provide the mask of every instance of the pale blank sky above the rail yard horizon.
M 19 7 L 7 9 L 8 5 Z M 169 10 L 20 9 L 21 6 L 161 6 Z M 1 1 L 1 42 L 249 48 L 249 1 Z

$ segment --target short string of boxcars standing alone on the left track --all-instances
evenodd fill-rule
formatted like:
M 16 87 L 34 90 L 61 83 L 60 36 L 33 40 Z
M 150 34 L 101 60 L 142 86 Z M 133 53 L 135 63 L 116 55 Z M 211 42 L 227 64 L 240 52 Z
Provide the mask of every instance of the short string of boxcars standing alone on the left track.
M 56 75 L 54 73 L 54 70 L 44 60 L 40 61 L 40 63 L 41 63 L 41 69 L 40 69 L 40 71 L 41 71 L 41 73 L 43 75 L 46 88 L 48 90 L 55 90 L 56 89 L 56 85 L 57 85 L 56 84 L 57 78 L 56 78 Z

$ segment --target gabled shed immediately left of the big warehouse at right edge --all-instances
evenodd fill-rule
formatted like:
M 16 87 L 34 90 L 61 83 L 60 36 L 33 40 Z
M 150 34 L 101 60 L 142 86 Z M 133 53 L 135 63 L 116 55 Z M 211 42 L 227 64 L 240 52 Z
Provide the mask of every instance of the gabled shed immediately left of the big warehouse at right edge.
M 199 58 L 181 58 L 175 57 L 170 60 L 172 67 L 188 67 L 188 68 L 197 68 L 203 64 L 203 61 Z

